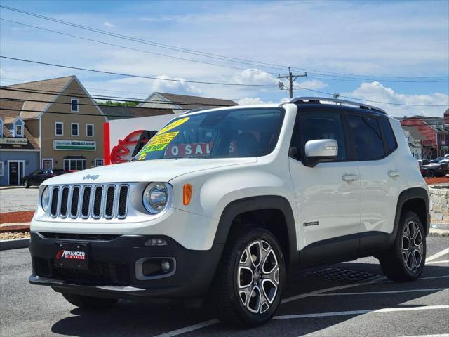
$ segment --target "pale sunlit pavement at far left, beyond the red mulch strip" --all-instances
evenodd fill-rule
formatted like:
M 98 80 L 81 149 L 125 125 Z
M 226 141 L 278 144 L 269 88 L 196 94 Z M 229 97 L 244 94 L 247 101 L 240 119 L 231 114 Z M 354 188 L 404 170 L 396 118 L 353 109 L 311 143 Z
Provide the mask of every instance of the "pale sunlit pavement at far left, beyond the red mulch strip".
M 34 211 L 39 187 L 0 189 L 0 213 Z

